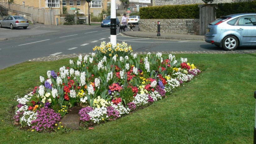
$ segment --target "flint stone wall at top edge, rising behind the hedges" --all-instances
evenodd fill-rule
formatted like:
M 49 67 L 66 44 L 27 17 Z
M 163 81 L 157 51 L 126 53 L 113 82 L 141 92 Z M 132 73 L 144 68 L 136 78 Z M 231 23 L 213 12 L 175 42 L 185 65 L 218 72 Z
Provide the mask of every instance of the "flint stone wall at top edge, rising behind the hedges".
M 154 2 L 155 1 L 155 2 Z M 203 4 L 202 0 L 154 0 L 153 6 L 181 5 L 181 4 Z M 234 3 L 248 0 L 215 0 L 213 3 Z

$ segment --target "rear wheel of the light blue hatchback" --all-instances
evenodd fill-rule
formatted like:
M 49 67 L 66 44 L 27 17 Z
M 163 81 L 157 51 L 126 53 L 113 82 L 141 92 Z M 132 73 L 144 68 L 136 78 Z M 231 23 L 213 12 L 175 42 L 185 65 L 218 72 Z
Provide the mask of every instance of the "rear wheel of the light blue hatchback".
M 238 40 L 235 36 L 228 35 L 222 40 L 222 47 L 225 50 L 235 50 L 238 46 Z

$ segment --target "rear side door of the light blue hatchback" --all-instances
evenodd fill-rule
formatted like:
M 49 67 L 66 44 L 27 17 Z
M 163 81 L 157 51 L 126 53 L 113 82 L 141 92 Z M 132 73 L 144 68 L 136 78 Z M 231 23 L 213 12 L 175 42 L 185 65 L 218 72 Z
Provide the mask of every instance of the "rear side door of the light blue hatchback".
M 256 18 L 255 15 L 246 15 L 238 18 L 235 29 L 241 36 L 241 44 L 256 44 Z

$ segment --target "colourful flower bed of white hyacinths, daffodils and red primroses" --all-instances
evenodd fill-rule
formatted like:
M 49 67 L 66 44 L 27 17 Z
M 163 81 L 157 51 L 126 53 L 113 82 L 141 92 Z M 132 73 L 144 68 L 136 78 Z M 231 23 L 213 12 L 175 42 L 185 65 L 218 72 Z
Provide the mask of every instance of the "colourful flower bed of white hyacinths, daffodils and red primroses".
M 59 129 L 57 123 L 76 105 L 83 107 L 79 115 L 84 126 L 113 121 L 161 100 L 200 72 L 186 58 L 133 54 L 124 42 L 102 42 L 93 50 L 40 76 L 39 86 L 17 99 L 15 123 L 38 132 Z

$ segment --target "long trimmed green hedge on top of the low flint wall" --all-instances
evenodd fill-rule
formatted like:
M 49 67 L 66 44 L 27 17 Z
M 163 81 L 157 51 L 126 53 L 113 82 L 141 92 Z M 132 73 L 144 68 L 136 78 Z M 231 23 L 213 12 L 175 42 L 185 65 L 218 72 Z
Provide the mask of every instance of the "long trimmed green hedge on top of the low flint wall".
M 199 18 L 198 4 L 165 5 L 139 9 L 141 19 Z

